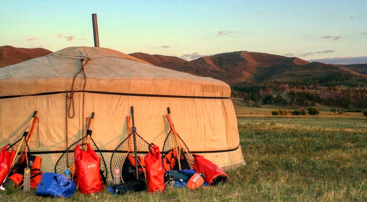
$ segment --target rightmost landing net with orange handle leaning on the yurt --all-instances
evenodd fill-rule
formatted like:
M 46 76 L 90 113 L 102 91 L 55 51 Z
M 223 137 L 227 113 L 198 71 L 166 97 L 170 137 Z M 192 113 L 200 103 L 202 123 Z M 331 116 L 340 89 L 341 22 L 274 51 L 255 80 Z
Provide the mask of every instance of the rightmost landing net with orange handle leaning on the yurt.
M 189 148 L 186 146 L 185 142 L 178 135 L 174 128 L 170 117 L 170 108 L 167 108 L 168 114 L 166 118 L 170 124 L 170 132 L 163 143 L 163 154 L 162 163 L 166 171 L 168 170 L 188 170 L 193 169 L 194 158 L 190 153 Z

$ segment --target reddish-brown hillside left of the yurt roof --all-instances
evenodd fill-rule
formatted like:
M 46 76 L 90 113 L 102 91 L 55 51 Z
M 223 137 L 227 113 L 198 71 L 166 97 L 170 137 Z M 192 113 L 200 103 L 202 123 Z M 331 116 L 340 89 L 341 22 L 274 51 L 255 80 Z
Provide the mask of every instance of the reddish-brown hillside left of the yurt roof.
M 15 48 L 12 46 L 0 46 L 0 68 L 18 64 L 32 58 L 41 57 L 52 53 L 44 48 Z

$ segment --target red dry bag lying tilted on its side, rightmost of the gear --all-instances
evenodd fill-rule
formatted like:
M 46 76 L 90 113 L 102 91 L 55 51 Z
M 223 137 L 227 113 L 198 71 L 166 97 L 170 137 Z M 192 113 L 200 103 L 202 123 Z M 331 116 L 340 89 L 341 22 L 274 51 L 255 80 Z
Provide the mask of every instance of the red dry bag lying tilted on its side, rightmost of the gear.
M 217 184 L 224 184 L 228 180 L 227 174 L 223 170 L 212 163 L 210 160 L 204 158 L 204 156 L 194 154 L 194 170 L 203 173 L 205 175 L 205 181 L 210 186 Z

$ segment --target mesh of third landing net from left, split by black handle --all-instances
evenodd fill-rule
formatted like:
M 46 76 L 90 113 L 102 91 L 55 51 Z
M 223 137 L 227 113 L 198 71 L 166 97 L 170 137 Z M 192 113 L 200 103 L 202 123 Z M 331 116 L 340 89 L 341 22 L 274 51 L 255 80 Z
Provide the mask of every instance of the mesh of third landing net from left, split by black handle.
M 139 179 L 145 179 L 145 162 L 144 156 L 148 154 L 149 143 L 145 141 L 141 136 L 135 133 L 136 137 L 136 148 L 137 148 L 137 159 L 138 159 L 138 174 Z M 121 170 L 120 179 L 123 182 L 129 182 L 136 180 L 135 172 L 135 156 L 134 156 L 134 143 L 133 134 L 125 138 L 116 149 L 112 152 L 110 171 L 113 173 L 113 169 L 118 167 Z

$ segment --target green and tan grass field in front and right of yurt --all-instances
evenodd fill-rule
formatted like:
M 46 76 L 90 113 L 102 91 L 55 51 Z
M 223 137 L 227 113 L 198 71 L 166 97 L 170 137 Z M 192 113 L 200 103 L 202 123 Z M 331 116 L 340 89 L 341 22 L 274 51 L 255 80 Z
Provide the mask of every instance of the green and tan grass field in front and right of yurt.
M 270 116 L 235 104 L 245 166 L 225 185 L 110 195 L 76 194 L 72 201 L 366 201 L 367 118 L 360 113 Z M 257 113 L 257 114 L 256 114 Z M 33 192 L 0 192 L 1 201 L 43 201 Z M 55 200 L 55 199 L 47 199 Z M 58 199 L 60 200 L 60 199 Z M 66 199 L 61 199 L 66 201 Z

